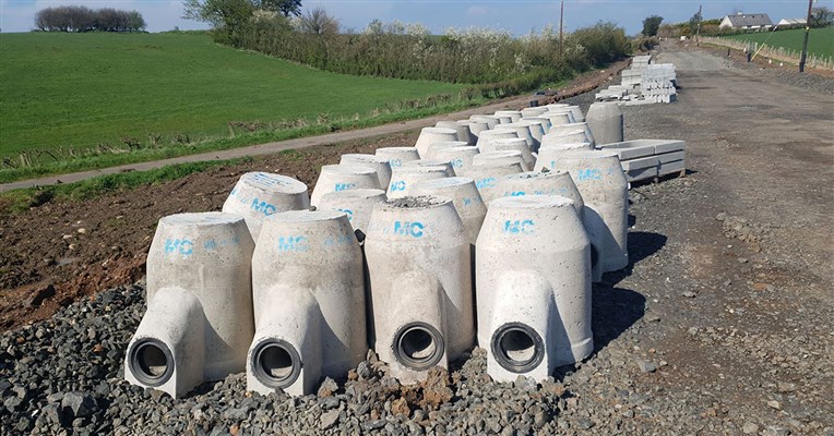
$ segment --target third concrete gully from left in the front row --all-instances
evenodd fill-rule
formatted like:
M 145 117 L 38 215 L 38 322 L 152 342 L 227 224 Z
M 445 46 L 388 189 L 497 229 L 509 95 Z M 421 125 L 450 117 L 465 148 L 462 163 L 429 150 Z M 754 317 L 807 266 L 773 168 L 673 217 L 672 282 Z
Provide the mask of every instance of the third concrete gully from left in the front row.
M 407 197 L 377 205 L 365 253 L 371 281 L 373 349 L 401 383 L 472 350 L 475 339 L 469 241 L 452 201 Z

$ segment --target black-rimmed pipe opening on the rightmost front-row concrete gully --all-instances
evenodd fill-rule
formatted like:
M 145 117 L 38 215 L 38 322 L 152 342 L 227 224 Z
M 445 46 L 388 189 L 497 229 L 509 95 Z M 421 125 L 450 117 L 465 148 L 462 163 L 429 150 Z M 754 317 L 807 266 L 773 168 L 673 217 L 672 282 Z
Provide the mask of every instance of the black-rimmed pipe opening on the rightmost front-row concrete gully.
M 492 335 L 492 355 L 504 370 L 522 374 L 531 372 L 545 359 L 541 337 L 521 323 L 504 324 Z

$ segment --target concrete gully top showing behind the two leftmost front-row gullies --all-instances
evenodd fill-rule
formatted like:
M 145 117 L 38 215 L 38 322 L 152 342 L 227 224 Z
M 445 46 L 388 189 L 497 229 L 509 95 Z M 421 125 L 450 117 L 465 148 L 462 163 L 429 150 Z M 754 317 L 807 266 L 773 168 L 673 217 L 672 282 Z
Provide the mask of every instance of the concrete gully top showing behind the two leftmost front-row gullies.
M 307 185 L 285 175 L 247 172 L 231 190 L 223 211 L 243 217 L 253 241 L 263 220 L 275 213 L 310 208 Z

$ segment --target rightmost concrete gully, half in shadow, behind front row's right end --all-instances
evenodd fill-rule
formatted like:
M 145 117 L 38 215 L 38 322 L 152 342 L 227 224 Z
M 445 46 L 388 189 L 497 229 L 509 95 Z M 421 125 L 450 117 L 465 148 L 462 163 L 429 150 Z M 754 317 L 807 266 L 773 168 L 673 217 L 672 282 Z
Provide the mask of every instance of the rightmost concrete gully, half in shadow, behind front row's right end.
M 585 228 L 599 259 L 594 281 L 628 266 L 629 184 L 617 154 L 568 152 L 556 159 L 555 169 L 570 172 L 585 202 Z

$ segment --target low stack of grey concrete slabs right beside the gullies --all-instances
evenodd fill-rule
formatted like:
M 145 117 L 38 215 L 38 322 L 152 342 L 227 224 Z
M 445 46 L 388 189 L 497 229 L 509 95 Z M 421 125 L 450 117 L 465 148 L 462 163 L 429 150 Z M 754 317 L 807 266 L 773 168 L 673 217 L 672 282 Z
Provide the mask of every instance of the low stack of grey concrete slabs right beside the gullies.
M 687 170 L 684 141 L 633 140 L 603 144 L 599 149 L 616 152 L 629 182 L 683 173 Z

